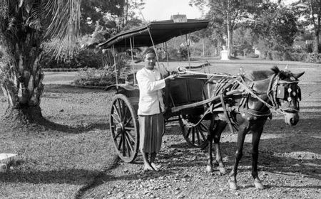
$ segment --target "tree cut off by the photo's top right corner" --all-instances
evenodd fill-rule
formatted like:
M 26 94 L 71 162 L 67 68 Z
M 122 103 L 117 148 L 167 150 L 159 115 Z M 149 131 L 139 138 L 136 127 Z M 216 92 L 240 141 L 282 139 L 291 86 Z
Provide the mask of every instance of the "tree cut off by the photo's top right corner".
M 321 30 L 321 1 L 320 0 L 301 0 L 292 4 L 293 9 L 302 16 L 302 23 L 312 26 L 315 34 L 314 53 L 320 53 L 320 30 Z

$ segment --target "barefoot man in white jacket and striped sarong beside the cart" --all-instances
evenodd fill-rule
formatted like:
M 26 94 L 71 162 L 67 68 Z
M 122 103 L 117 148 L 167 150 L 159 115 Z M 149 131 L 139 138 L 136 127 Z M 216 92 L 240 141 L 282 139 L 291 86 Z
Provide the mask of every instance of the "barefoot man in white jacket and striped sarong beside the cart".
M 143 61 L 145 67 L 136 75 L 139 87 L 139 143 L 143 154 L 144 171 L 158 171 L 155 158 L 161 149 L 165 111 L 162 89 L 165 87 L 165 82 L 175 79 L 176 75 L 161 78 L 161 73 L 155 68 L 156 53 L 153 48 L 145 50 Z

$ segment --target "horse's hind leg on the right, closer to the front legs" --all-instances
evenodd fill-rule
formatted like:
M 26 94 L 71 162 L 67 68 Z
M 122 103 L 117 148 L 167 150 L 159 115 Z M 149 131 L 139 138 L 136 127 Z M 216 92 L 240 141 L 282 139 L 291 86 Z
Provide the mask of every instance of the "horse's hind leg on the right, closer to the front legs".
M 226 173 L 226 168 L 222 160 L 222 155 L 220 153 L 220 135 L 222 134 L 222 131 L 226 127 L 226 122 L 223 122 L 221 120 L 218 121 L 218 125 L 215 128 L 215 134 L 214 134 L 214 146 L 215 146 L 215 163 L 218 164 L 218 171 L 220 171 L 220 174 Z

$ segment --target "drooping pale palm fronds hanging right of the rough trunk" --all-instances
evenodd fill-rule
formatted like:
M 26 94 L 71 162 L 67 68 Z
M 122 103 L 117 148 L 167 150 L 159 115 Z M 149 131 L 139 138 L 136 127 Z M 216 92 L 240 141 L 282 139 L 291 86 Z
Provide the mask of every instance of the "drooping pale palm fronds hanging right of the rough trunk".
M 68 55 L 73 55 L 79 36 L 81 0 L 49 0 L 45 10 L 51 16 L 51 23 L 45 38 L 56 37 L 61 44 L 54 51 L 56 58 L 63 49 L 68 48 Z

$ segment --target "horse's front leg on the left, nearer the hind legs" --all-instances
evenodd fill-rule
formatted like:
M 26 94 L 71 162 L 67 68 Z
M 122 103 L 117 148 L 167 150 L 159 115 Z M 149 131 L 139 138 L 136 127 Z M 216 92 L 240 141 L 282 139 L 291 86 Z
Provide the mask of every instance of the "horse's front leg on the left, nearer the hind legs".
M 230 189 L 236 190 L 238 189 L 237 181 L 236 181 L 236 175 L 238 173 L 238 163 L 240 162 L 240 159 L 243 156 L 243 144 L 245 135 L 248 133 L 248 127 L 247 126 L 240 126 L 238 131 L 238 146 L 237 150 L 235 152 L 235 161 L 232 168 L 232 171 L 230 171 L 230 179 L 229 179 L 229 185 Z

